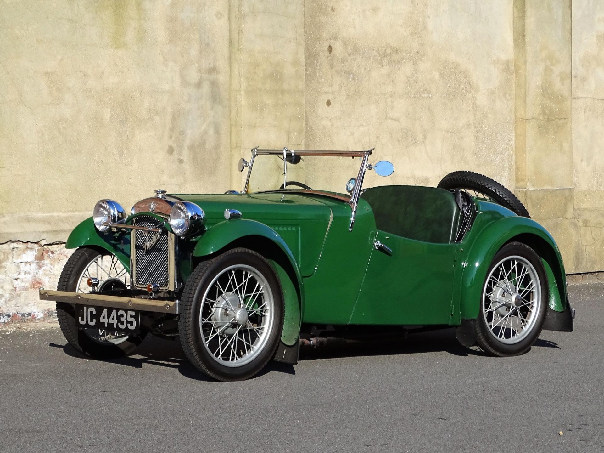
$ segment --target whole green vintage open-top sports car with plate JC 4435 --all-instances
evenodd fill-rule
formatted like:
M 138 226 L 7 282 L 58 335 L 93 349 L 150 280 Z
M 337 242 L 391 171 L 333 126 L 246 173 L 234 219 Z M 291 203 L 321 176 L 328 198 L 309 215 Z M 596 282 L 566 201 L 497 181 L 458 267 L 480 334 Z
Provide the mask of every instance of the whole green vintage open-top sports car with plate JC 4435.
M 295 364 L 326 335 L 456 327 L 461 344 L 513 356 L 544 328 L 573 330 L 556 243 L 510 191 L 472 172 L 377 185 L 394 167 L 371 151 L 254 148 L 240 193 L 158 190 L 130 215 L 101 200 L 40 298 L 80 353 L 179 337 L 223 381 Z

